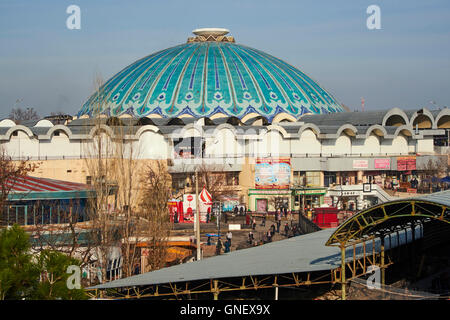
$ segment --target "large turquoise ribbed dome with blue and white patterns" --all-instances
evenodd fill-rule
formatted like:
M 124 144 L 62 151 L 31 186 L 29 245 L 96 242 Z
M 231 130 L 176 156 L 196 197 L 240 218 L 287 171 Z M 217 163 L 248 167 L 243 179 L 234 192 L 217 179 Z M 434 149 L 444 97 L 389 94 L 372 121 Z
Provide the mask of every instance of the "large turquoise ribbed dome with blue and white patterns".
M 129 65 L 92 95 L 78 116 L 222 113 L 242 119 L 257 113 L 272 121 L 280 113 L 298 119 L 342 111 L 331 94 L 288 63 L 232 37 L 198 36 Z

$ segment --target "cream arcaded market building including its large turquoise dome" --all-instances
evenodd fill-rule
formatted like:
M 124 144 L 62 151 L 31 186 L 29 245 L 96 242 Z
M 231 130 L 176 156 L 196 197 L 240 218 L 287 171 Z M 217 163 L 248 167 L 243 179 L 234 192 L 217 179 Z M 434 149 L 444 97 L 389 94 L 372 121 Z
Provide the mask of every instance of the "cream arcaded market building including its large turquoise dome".
M 166 161 L 175 195 L 192 193 L 193 172 L 206 166 L 224 176 L 230 203 L 257 212 L 333 205 L 337 186 L 407 190 L 430 159 L 448 166 L 450 109 L 350 112 L 296 67 L 228 33 L 194 30 L 132 63 L 62 123 L 4 119 L 1 146 L 41 162 L 39 177 L 90 184 L 85 159 L 101 134 L 137 161 Z M 358 208 L 373 201 L 356 197 Z

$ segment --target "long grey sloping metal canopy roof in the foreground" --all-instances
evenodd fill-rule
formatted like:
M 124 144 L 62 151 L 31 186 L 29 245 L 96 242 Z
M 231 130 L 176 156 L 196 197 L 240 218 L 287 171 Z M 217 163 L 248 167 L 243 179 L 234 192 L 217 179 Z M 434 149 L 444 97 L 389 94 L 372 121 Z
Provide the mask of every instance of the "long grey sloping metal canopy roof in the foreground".
M 326 247 L 334 229 L 301 235 L 168 268 L 115 280 L 90 289 L 146 286 L 248 275 L 331 270 L 340 266 L 340 251 Z

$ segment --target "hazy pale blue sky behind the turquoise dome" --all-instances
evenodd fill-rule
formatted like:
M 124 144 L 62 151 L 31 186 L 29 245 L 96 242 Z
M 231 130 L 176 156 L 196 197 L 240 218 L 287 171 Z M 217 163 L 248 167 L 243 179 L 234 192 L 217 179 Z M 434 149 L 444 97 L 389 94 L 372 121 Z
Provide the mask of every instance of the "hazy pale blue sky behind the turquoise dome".
M 81 8 L 68 30 L 66 8 Z M 366 9 L 381 8 L 381 30 Z M 76 114 L 135 60 L 222 27 L 309 74 L 352 110 L 450 106 L 450 1 L 0 0 L 0 118 L 14 107 Z

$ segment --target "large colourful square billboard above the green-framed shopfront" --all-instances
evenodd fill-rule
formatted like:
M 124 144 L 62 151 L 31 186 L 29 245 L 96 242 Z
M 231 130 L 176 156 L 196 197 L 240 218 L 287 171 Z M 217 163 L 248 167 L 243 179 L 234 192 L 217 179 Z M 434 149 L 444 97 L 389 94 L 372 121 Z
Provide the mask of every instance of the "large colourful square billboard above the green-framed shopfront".
M 289 189 L 291 179 L 291 160 L 256 159 L 255 188 Z

